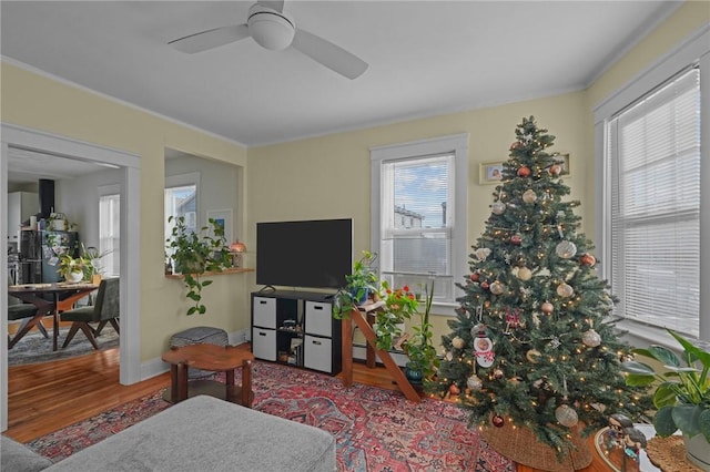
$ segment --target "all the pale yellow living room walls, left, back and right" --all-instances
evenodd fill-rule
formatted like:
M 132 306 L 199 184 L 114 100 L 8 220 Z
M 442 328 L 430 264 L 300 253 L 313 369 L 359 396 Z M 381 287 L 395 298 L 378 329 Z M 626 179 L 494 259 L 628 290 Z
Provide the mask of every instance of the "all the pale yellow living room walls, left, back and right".
M 248 153 L 226 140 L 7 63 L 2 63 L 1 69 L 0 117 L 6 123 L 141 156 L 141 359 L 145 361 L 160 356 L 171 334 L 190 326 L 209 324 L 227 331 L 246 328 L 247 291 L 254 288 L 253 275 L 216 277 L 210 294 L 205 295 L 209 314 L 184 316 L 182 286 L 163 277 L 163 240 L 162 236 L 155 236 L 163 233 L 164 147 L 244 166 L 239 178 L 244 181 L 240 188 L 245 192 L 241 197 L 246 202 L 246 212 L 235 213 L 235 218 L 246 228 L 244 237 L 250 249 L 255 245 L 255 223 L 260 220 L 352 216 L 356 225 L 355 249 L 359 252 L 369 248 L 368 148 L 467 132 L 470 134 L 468 242 L 474 244 L 484 229 L 493 191 L 478 184 L 478 164 L 505 160 L 516 124 L 523 116 L 535 115 L 541 126 L 557 136 L 552 150 L 571 153 L 572 175 L 566 182 L 572 188 L 571 197 L 582 203 L 581 229 L 591 237 L 595 213 L 592 106 L 709 21 L 708 2 L 687 2 L 588 91 L 257 147 Z M 254 255 L 250 254 L 246 264 L 253 263 Z M 435 339 L 448 332 L 445 320 L 435 317 Z

